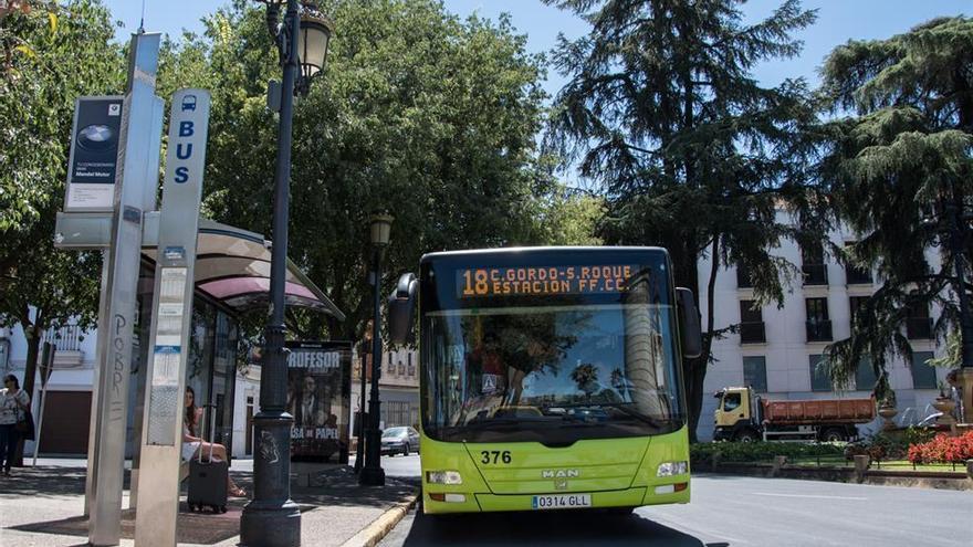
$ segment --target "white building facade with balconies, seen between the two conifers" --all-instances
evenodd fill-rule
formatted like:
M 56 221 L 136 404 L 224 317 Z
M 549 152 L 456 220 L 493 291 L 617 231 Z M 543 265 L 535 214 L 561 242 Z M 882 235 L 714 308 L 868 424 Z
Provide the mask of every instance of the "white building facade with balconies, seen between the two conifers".
M 778 220 L 789 220 L 783 211 Z M 849 230 L 829 234 L 831 243 L 844 246 L 856 241 Z M 781 256 L 801 272 L 801 276 L 785 286 L 782 307 L 776 303 L 758 305 L 745 270 L 721 267 L 713 291 L 714 328 L 740 325 L 736 334 L 713 341 L 713 362 L 707 372 L 704 389 L 715 392 L 730 386 L 752 386 L 762 397 L 771 400 L 868 398 L 876 376 L 870 364 L 859 364 L 854 386 L 836 389 L 818 367 L 828 344 L 847 338 L 851 318 L 864 298 L 873 294 L 881 280 L 873 272 L 839 264 L 822 246 L 802 249 L 793 241 L 784 241 L 772 254 Z M 939 256 L 927 255 L 935 266 Z M 705 324 L 709 314 L 707 287 L 711 256 L 699 263 L 701 294 L 700 312 Z M 941 357 L 941 348 L 932 338 L 932 318 L 938 309 L 912 309 L 903 334 L 912 345 L 913 358 L 889 358 L 891 388 L 896 391 L 898 423 L 916 423 L 934 410 L 931 402 L 939 393 L 939 382 L 945 370 L 925 364 Z M 697 430 L 700 440 L 712 439 L 713 411 L 716 400 L 703 398 L 702 414 Z M 879 428 L 879 420 L 860 427 L 862 434 Z

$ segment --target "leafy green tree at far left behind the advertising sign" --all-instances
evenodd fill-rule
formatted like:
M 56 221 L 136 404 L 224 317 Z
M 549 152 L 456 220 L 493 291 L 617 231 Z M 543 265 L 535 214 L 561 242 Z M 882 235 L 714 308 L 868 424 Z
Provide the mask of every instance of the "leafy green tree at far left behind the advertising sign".
M 94 325 L 101 255 L 55 250 L 74 101 L 118 93 L 122 51 L 97 0 L 20 2 L 0 18 L 0 324 L 20 325 L 33 392 L 44 330 Z

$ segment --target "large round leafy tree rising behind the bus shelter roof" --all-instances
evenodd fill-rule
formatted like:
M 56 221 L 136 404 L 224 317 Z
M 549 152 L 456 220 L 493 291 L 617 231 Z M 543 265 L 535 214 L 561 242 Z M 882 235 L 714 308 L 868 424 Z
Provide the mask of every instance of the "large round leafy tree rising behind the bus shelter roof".
M 299 335 L 356 339 L 372 313 L 373 210 L 396 217 L 387 292 L 426 252 L 542 243 L 550 228 L 536 213 L 561 218 L 572 202 L 557 199 L 536 150 L 541 59 L 510 21 L 460 21 L 432 0 L 323 8 L 336 32 L 295 108 L 289 254 L 349 320 L 294 311 L 289 323 Z M 160 81 L 213 90 L 203 207 L 272 239 L 276 124 L 264 96 L 276 52 L 262 9 L 238 2 L 206 28 L 172 45 Z

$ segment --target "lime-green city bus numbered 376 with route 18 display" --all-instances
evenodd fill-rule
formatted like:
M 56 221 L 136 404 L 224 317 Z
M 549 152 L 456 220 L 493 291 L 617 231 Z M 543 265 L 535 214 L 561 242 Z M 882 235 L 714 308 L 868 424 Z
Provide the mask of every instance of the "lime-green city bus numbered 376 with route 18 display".
M 699 312 L 666 250 L 427 254 L 389 298 L 394 343 L 416 301 L 426 513 L 689 502 Z

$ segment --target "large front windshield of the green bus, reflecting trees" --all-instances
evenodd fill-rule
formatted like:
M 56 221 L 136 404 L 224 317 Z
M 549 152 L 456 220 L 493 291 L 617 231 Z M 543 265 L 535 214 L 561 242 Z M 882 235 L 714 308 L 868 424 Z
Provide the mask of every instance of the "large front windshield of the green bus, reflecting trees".
M 499 286 L 495 297 L 481 293 L 469 298 L 462 290 L 465 277 L 473 277 L 465 270 L 453 275 L 440 264 L 425 272 L 437 269 L 430 277 L 452 283 L 423 286 L 438 293 L 423 297 L 427 435 L 555 446 L 682 427 L 676 320 L 665 269 L 635 264 L 625 270 L 627 280 L 610 282 L 615 286 L 607 291 L 568 284 L 557 294 L 536 286 L 531 294 L 511 294 Z M 506 272 L 494 277 L 505 278 Z M 554 269 L 548 272 L 557 276 Z M 436 308 L 443 302 L 450 305 Z

